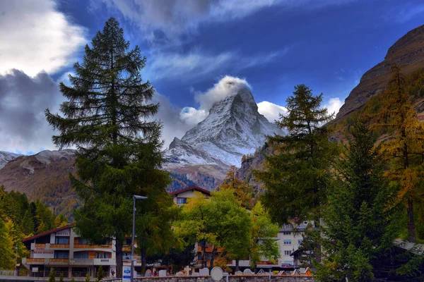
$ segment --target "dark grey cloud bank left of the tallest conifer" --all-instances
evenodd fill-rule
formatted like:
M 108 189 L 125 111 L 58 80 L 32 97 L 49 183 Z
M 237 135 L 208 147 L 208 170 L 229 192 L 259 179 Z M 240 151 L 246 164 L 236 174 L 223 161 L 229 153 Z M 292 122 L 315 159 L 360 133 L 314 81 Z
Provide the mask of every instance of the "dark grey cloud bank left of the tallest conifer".
M 47 73 L 31 78 L 12 70 L 0 75 L 0 150 L 25 154 L 55 149 L 44 111 L 58 111 L 62 99 Z

